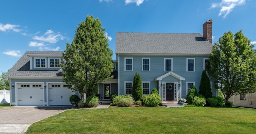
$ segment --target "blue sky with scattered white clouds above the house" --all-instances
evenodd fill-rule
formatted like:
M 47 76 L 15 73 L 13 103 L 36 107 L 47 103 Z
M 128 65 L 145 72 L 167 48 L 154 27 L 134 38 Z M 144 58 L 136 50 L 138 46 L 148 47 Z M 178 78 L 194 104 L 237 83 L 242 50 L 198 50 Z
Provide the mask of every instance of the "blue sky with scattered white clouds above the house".
M 30 51 L 64 51 L 87 15 L 99 18 L 114 52 L 116 32 L 201 33 L 213 19 L 213 43 L 225 32 L 256 43 L 256 0 L 1 0 L 0 73 Z

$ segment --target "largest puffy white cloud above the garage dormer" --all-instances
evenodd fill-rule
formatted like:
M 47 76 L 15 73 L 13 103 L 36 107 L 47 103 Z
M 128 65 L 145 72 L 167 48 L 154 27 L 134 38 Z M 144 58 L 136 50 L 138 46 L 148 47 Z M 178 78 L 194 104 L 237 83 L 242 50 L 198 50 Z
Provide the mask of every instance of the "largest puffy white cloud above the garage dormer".
M 36 34 L 38 34 L 37 32 Z M 49 43 L 56 43 L 59 40 L 65 39 L 64 36 L 62 36 L 60 33 L 54 33 L 52 30 L 47 30 L 46 33 L 42 36 L 34 36 L 33 39 L 39 40 L 39 41 L 44 41 L 44 42 L 49 42 Z

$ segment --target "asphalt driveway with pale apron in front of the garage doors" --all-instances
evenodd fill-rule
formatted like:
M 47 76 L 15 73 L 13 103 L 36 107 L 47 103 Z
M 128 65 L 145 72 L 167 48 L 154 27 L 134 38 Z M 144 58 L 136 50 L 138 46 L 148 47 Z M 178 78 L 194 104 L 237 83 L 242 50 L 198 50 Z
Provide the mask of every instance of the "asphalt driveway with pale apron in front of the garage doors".
M 72 107 L 13 106 L 0 108 L 0 133 L 22 133 L 30 124 Z

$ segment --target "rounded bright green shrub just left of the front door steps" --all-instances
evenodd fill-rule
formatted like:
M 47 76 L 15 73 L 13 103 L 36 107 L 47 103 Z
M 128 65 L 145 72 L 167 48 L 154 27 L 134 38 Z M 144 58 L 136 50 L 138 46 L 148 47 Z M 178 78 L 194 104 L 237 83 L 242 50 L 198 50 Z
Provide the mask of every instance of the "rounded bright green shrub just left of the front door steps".
M 146 106 L 156 107 L 161 104 L 162 100 L 157 94 L 150 94 L 143 98 L 143 103 Z

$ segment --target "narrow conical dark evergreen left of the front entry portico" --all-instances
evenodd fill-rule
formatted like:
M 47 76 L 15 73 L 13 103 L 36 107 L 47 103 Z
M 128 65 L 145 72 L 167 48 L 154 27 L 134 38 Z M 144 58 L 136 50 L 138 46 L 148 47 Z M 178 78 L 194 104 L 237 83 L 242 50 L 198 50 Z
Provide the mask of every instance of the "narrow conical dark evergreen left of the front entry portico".
M 142 91 L 142 82 L 140 78 L 140 74 L 135 73 L 134 79 L 133 79 L 133 85 L 132 85 L 132 96 L 135 101 L 138 101 L 141 99 L 143 95 Z

